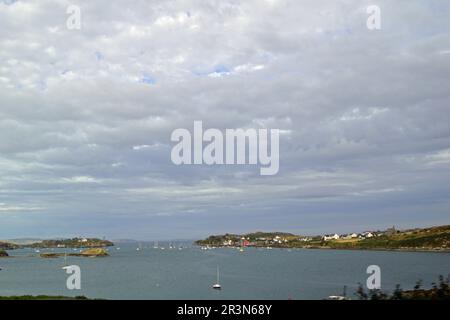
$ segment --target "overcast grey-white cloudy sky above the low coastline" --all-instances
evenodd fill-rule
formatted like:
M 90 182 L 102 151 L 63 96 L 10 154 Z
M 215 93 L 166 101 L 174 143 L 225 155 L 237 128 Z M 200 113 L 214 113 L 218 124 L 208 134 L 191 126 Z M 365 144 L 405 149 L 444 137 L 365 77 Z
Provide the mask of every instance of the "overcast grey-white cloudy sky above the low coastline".
M 0 239 L 449 224 L 449 17 L 441 0 L 0 0 Z M 173 165 L 195 120 L 282 130 L 278 175 Z

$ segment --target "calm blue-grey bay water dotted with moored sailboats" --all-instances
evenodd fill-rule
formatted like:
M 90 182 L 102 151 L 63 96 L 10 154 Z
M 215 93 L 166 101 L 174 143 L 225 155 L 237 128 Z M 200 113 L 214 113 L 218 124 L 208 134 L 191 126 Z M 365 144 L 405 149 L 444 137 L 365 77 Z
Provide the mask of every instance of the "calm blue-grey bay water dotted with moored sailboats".
M 107 258 L 68 257 L 81 267 L 82 290 L 66 289 L 64 259 L 42 259 L 33 250 L 0 259 L 0 295 L 85 295 L 106 299 L 322 299 L 353 295 L 366 268 L 382 270 L 382 287 L 429 285 L 450 273 L 450 254 L 382 251 L 154 249 L 117 244 Z M 43 250 L 45 251 L 45 250 Z M 222 291 L 211 286 L 220 267 Z

